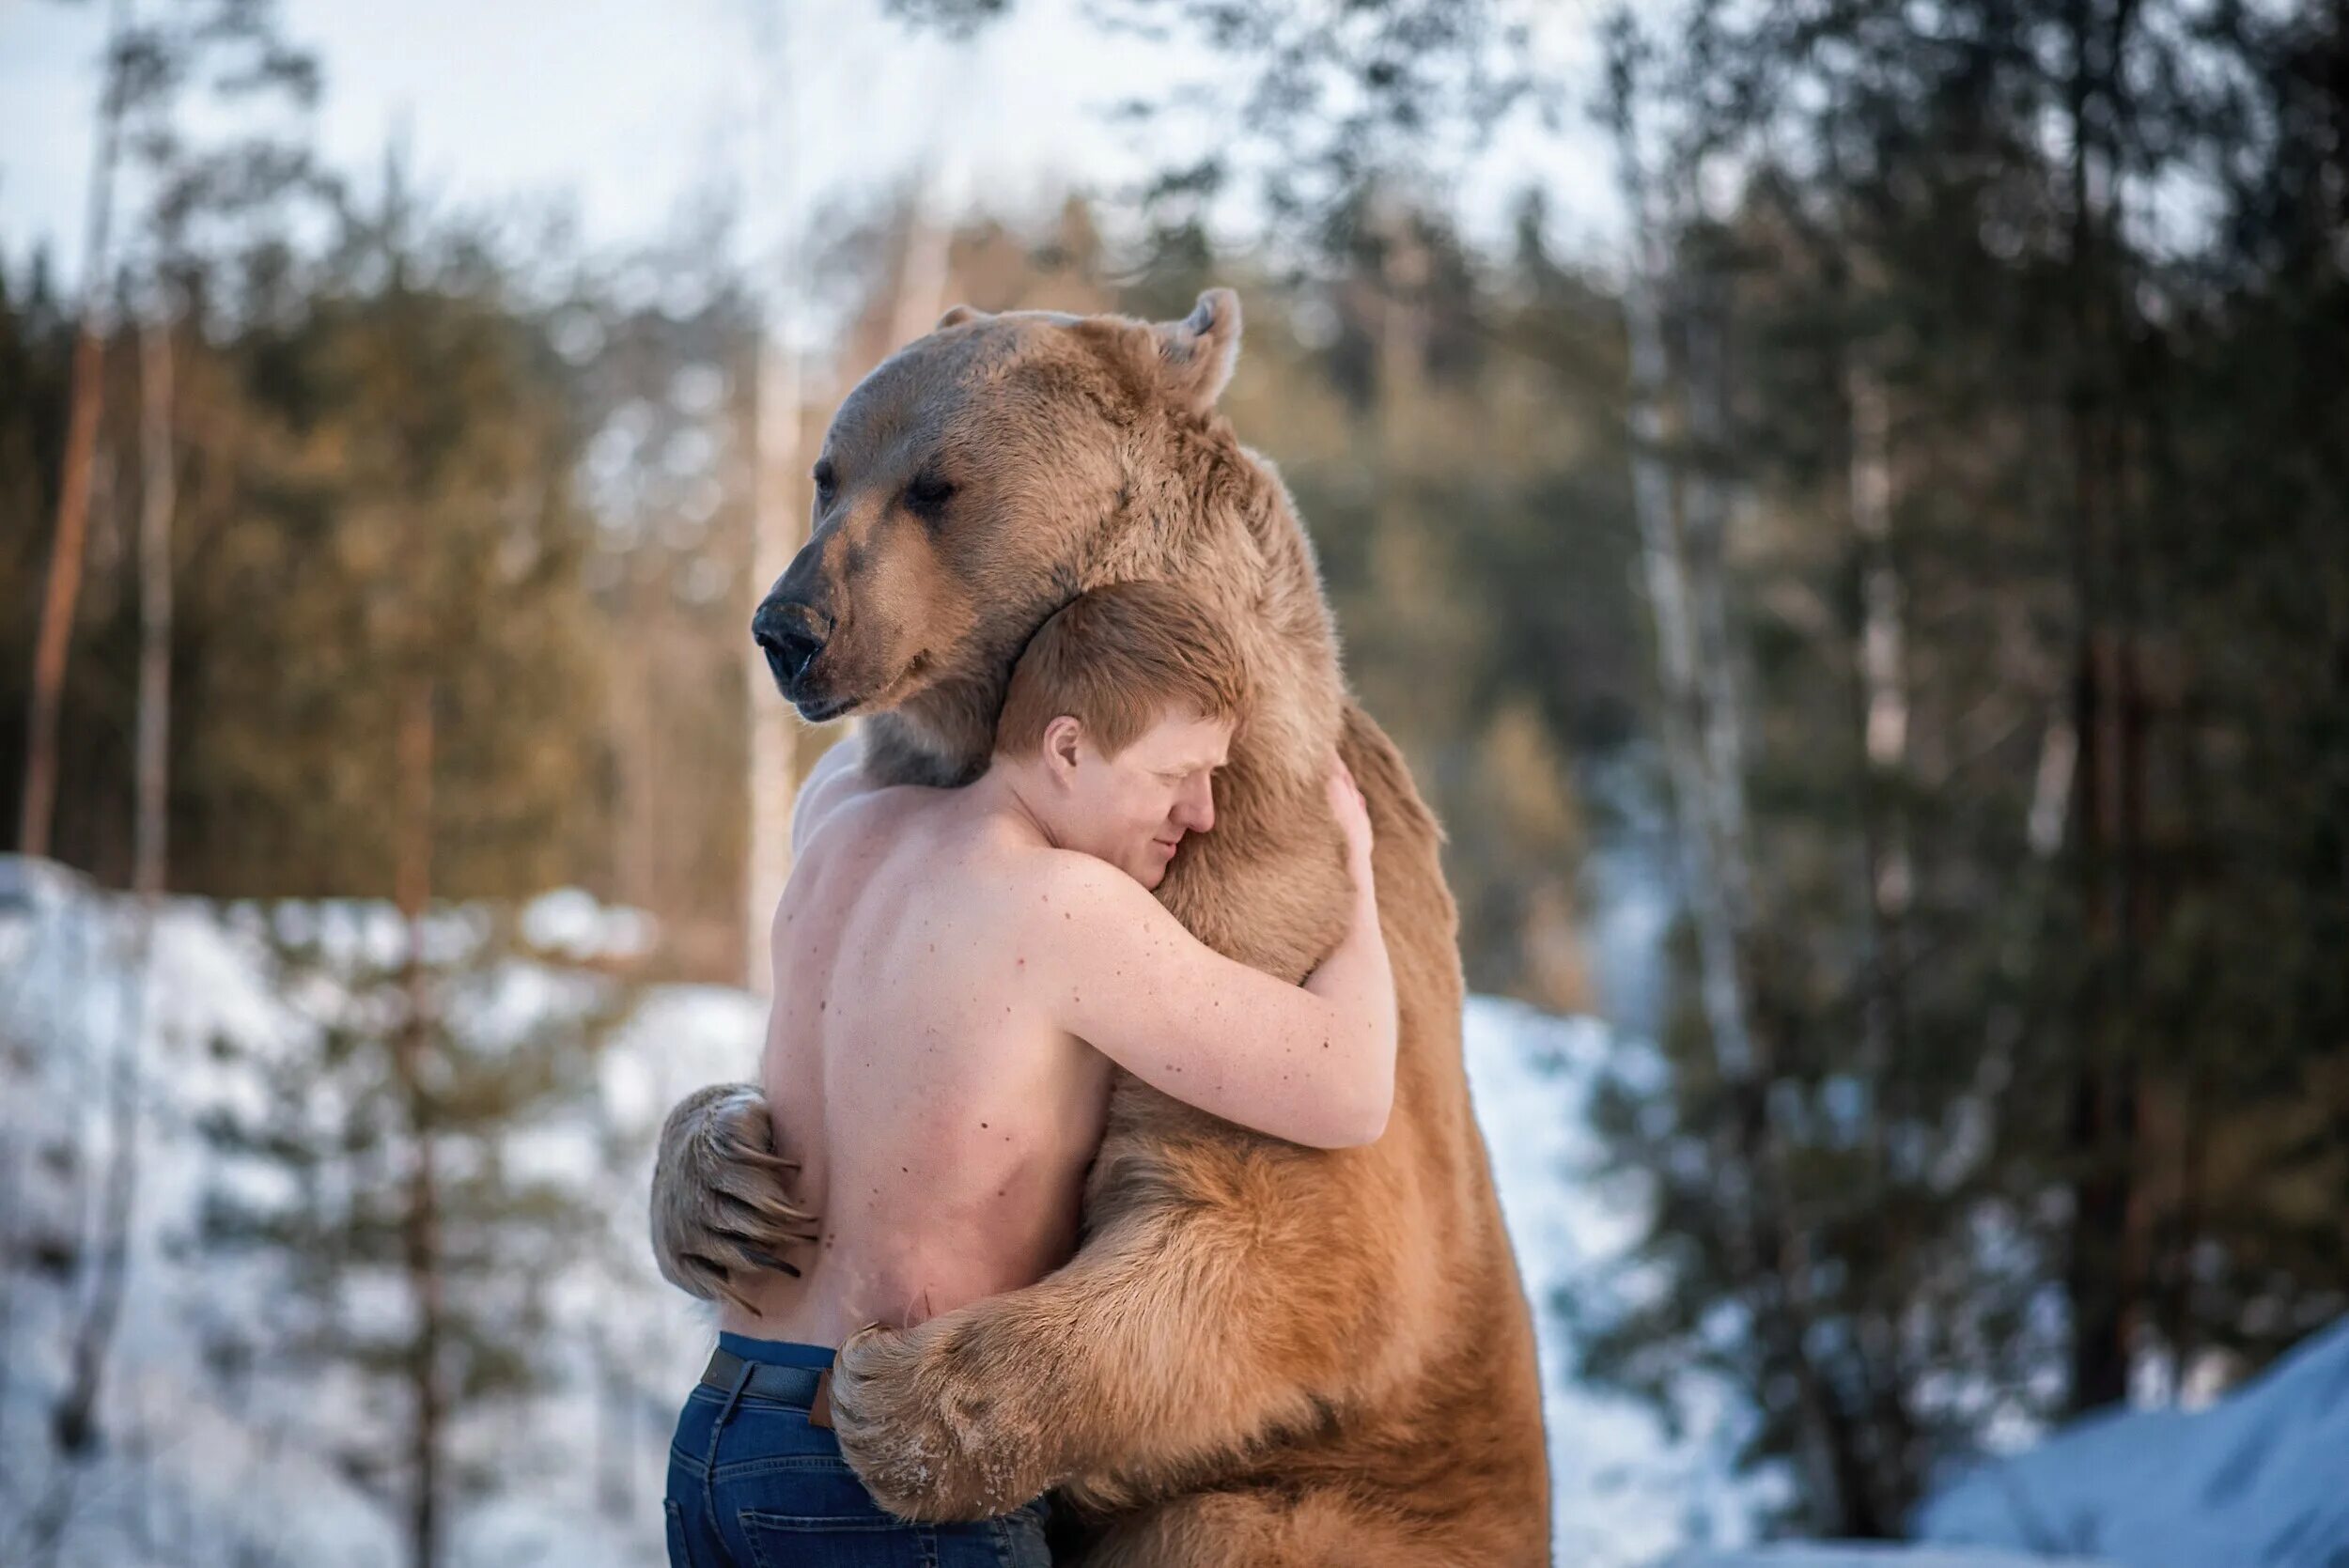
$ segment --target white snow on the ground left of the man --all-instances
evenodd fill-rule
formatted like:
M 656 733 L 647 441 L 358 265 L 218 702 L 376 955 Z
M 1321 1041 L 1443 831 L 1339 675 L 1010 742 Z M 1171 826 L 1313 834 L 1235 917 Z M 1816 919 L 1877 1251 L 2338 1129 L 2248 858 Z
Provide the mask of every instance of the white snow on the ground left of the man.
M 230 1174 L 197 1117 L 258 1099 L 270 1045 L 305 1023 L 270 991 L 254 911 L 167 901 L 143 995 L 124 984 L 129 913 L 124 899 L 94 894 L 56 866 L 0 857 L 0 1261 L 26 1261 L 0 1270 L 0 1563 L 26 1561 L 28 1521 L 70 1483 L 73 1528 L 59 1556 L 68 1568 L 392 1568 L 404 1561 L 397 1514 L 338 1469 L 324 1437 L 397 1420 L 397 1392 L 268 1354 L 228 1373 L 207 1364 L 223 1329 L 265 1317 L 272 1263 L 195 1246 L 204 1190 Z M 625 951 L 639 939 L 625 918 L 597 930 L 576 897 L 531 913 L 571 953 Z M 343 904 L 294 918 L 373 951 L 388 911 Z M 500 974 L 477 1023 L 514 1026 L 521 1019 L 510 1014 L 564 1005 L 573 991 L 552 969 Z M 87 1289 L 87 1268 L 70 1258 L 89 1256 L 106 1075 L 134 1019 L 146 1091 L 129 1291 L 101 1404 L 106 1444 L 96 1462 L 68 1474 L 52 1455 L 49 1411 Z M 505 1495 L 453 1509 L 449 1561 L 458 1568 L 660 1561 L 669 1422 L 709 1329 L 707 1310 L 653 1270 L 648 1150 L 677 1096 L 756 1061 L 761 1028 L 763 1007 L 738 991 L 655 988 L 604 1054 L 597 1103 L 533 1127 L 526 1157 L 578 1171 L 611 1223 L 550 1282 L 550 1387 L 465 1430 L 463 1458 L 489 1462 Z M 223 1059 L 216 1035 L 251 1052 Z M 627 1155 L 604 1153 L 613 1148 Z M 40 1256 L 63 1263 L 45 1268 Z

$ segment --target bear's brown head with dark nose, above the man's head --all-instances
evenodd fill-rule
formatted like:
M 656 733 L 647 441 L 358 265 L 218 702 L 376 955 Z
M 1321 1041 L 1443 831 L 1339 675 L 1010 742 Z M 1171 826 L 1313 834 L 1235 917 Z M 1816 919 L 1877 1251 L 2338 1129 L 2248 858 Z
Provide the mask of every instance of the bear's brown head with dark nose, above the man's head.
M 1207 427 L 1238 350 L 1231 289 L 1160 324 L 949 310 L 832 418 L 808 545 L 752 617 L 775 683 L 810 721 L 897 714 L 949 772 L 975 768 L 1052 610 L 1196 577 L 1205 535 L 1231 533 L 1200 453 L 1229 446 Z

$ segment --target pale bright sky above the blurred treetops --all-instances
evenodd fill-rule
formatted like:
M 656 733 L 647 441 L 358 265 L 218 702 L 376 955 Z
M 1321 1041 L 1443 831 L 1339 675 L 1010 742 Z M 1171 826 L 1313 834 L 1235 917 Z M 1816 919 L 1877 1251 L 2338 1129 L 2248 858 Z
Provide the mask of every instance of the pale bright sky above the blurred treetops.
M 153 14 L 169 0 L 134 0 Z M 916 33 L 879 0 L 282 0 L 317 52 L 312 117 L 329 167 L 373 178 L 397 141 L 442 207 L 566 209 L 590 246 L 674 232 L 695 207 L 761 190 L 745 246 L 921 171 L 942 211 L 1019 214 L 1071 183 L 1116 188 L 1196 153 L 1111 127 L 1109 101 L 1231 68 L 1189 42 L 1104 35 L 1081 0 L 1017 0 L 970 42 Z M 103 0 L 0 0 L 0 256 L 45 242 L 80 272 Z M 1597 0 L 1541 7 L 1539 49 L 1588 75 Z M 787 92 L 763 92 L 785 82 Z M 761 115 L 768 115 L 761 120 Z M 1583 115 L 1520 124 L 1456 181 L 1470 237 L 1499 242 L 1539 183 L 1553 232 L 1604 256 L 1609 157 Z M 1217 214 L 1238 242 L 1245 207 Z M 1104 225 L 1116 230 L 1118 214 Z

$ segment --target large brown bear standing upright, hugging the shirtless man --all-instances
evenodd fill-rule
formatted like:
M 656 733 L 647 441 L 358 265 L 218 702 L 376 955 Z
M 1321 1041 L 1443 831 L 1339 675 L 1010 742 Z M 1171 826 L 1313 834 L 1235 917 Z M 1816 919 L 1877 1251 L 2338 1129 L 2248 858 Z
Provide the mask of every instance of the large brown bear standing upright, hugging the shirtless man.
M 1285 486 L 1214 408 L 1238 347 L 1229 289 L 1167 324 L 956 305 L 841 404 L 815 533 L 756 629 L 806 718 L 869 716 L 871 770 L 961 784 L 1029 634 L 1076 594 L 1179 582 L 1238 627 L 1257 697 L 1217 826 L 1160 897 L 1210 946 L 1306 976 L 1346 908 L 1322 798 L 1339 746 L 1400 1002 L 1386 1136 L 1297 1148 L 1120 1075 L 1078 1253 L 853 1338 L 834 1422 L 893 1512 L 1055 1491 L 1092 1566 L 1543 1563 L 1534 1329 L 1468 1108 L 1440 831 L 1344 690 Z M 747 1091 L 669 1117 L 655 1246 L 679 1284 L 721 1291 L 803 1223 L 763 1141 Z

